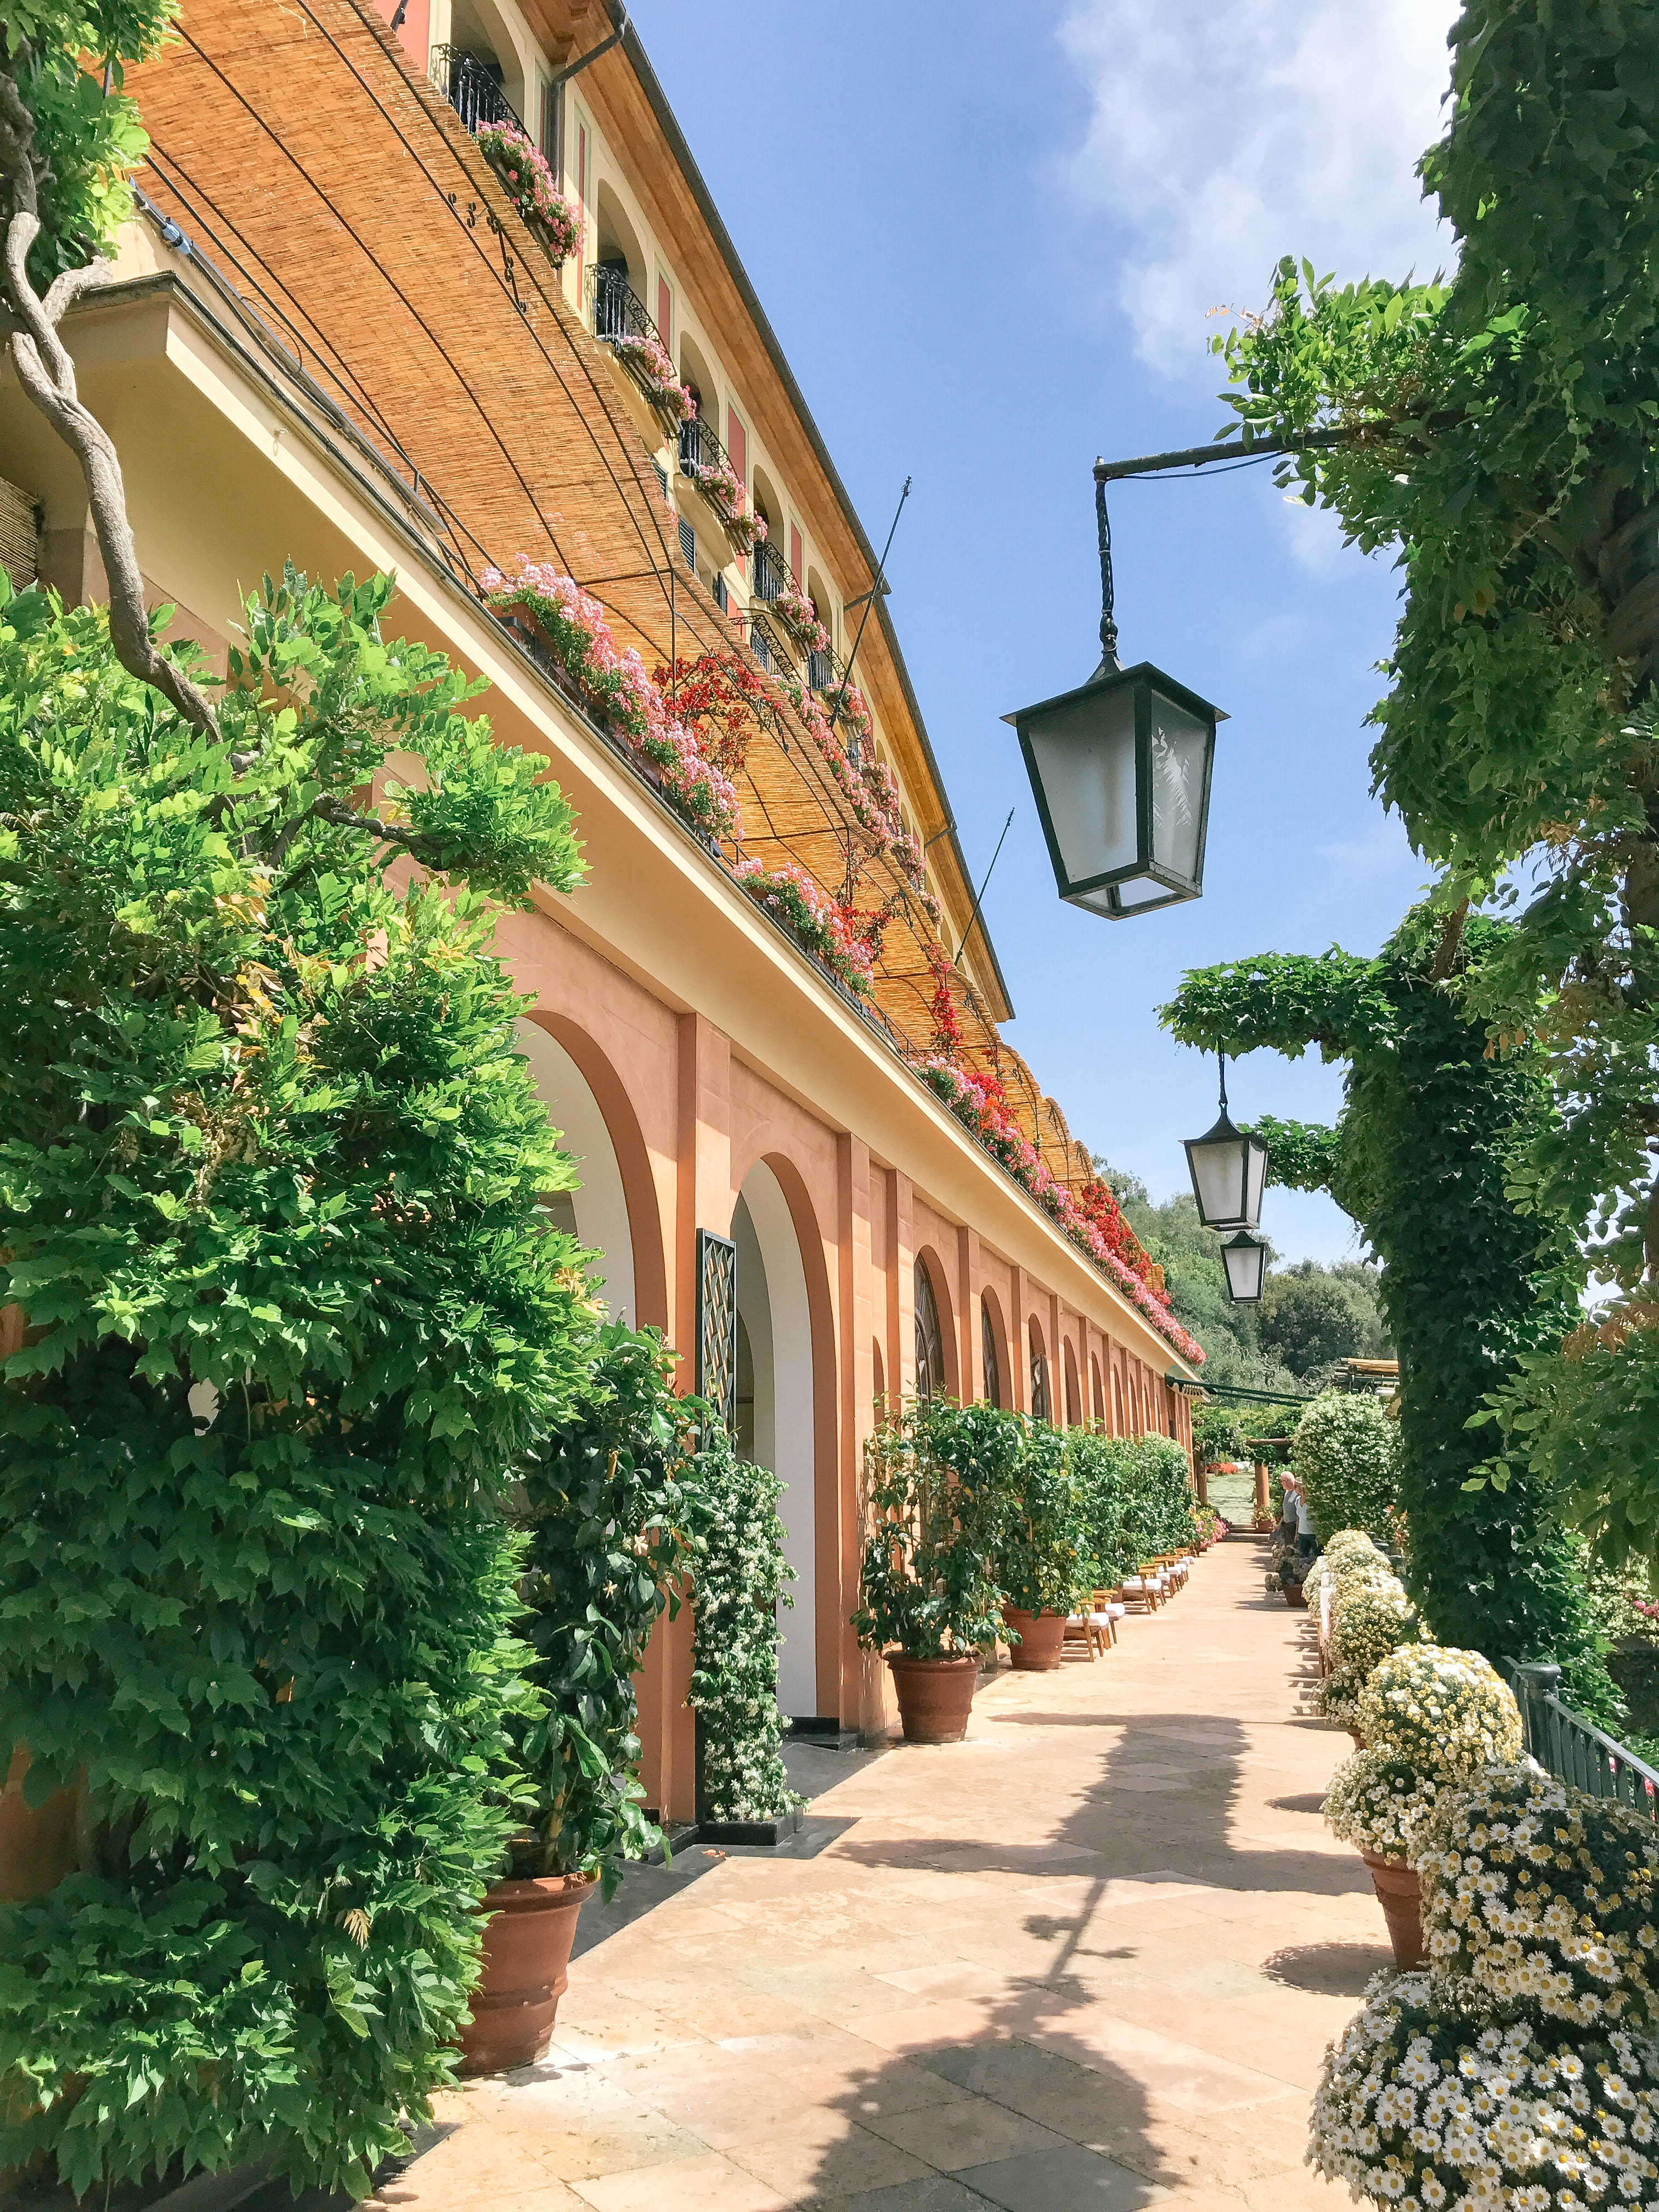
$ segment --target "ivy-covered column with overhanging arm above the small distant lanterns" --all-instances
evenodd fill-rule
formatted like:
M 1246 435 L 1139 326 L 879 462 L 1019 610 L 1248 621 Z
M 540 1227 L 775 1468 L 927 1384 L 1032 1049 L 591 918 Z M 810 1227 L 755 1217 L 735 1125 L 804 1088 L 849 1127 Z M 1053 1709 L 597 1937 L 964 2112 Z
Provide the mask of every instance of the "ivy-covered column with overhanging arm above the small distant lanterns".
M 1473 916 L 1460 969 L 1502 958 L 1511 929 Z M 1613 1717 L 1577 1553 L 1546 1484 L 1517 1471 L 1471 1489 L 1491 1451 L 1469 1422 L 1486 1394 L 1571 1314 L 1573 1241 L 1524 1214 L 1506 1164 L 1551 1124 L 1544 1055 L 1491 1053 L 1455 982 L 1436 982 L 1440 925 L 1405 920 L 1376 960 L 1343 951 L 1194 969 L 1164 1022 L 1206 1051 L 1316 1044 L 1347 1062 L 1336 1128 L 1261 1121 L 1279 1183 L 1329 1190 L 1383 1259 L 1380 1301 L 1400 1356 L 1400 1504 L 1409 1584 L 1442 1644 L 1555 1659 L 1575 1699 Z

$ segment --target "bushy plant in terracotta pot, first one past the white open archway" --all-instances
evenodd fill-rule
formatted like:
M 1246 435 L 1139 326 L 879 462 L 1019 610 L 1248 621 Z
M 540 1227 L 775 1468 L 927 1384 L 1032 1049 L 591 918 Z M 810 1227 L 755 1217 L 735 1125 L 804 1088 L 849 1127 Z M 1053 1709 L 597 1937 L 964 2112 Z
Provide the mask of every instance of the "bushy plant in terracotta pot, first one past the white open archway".
M 995 1520 L 1018 1416 L 938 1400 L 898 1409 L 865 1447 L 867 1535 L 852 1626 L 883 1652 L 907 1743 L 960 1743 L 980 1646 L 995 1639 Z

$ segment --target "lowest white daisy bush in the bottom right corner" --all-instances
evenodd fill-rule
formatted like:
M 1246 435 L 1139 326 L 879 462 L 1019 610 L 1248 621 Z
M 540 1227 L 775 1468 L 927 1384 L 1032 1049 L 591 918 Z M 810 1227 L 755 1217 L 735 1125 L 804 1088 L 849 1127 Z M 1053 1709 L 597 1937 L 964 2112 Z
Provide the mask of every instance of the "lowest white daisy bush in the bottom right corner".
M 1325 2053 L 1310 2159 L 1367 2203 L 1652 2203 L 1659 2046 L 1506 2020 L 1473 1982 L 1378 1975 Z

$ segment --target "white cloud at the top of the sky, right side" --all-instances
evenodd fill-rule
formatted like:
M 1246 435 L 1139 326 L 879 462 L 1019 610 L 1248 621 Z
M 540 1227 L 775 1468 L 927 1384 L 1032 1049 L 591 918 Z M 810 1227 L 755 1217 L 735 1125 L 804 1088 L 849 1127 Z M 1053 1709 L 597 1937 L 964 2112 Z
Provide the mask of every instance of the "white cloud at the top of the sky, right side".
M 1451 234 L 1416 159 L 1442 131 L 1455 0 L 1071 0 L 1093 115 L 1066 179 L 1124 234 L 1119 305 L 1164 372 L 1210 374 L 1217 305 L 1274 261 L 1420 276 Z

